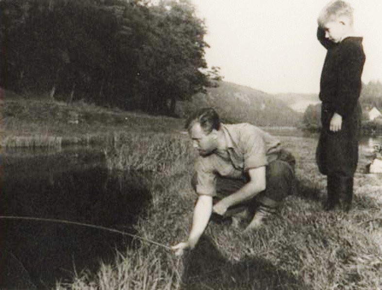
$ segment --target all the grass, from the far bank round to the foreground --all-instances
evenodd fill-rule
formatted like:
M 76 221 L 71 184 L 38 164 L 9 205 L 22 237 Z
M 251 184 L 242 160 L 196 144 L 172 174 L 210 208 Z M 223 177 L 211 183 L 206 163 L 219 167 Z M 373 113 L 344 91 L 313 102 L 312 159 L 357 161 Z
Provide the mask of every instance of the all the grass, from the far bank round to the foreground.
M 195 153 L 180 132 L 182 120 L 41 100 L 2 106 L 5 138 L 61 136 L 70 143 L 73 136 L 95 136 L 105 142 L 111 170 L 154 172 L 151 205 L 135 225 L 136 234 L 166 247 L 187 238 L 196 199 L 190 186 Z M 79 123 L 68 122 L 69 111 L 82 116 Z M 58 283 L 56 289 L 381 289 L 381 176 L 363 173 L 367 160 L 361 154 L 353 209 L 325 212 L 326 179 L 316 168 L 316 140 L 280 138 L 297 159 L 299 192 L 265 227 L 244 234 L 230 222 L 211 221 L 198 246 L 182 258 L 166 247 L 140 242 L 116 252 L 115 262 L 101 263 L 98 272 L 77 273 L 73 283 Z

